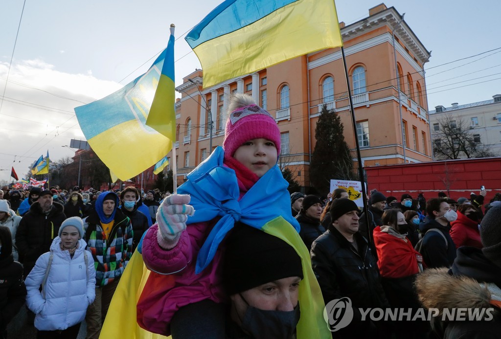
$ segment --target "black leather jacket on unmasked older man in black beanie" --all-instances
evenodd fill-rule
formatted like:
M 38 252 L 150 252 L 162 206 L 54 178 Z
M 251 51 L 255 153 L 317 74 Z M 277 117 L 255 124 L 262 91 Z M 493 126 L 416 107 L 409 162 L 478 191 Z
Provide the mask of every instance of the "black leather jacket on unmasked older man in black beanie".
M 341 297 L 349 297 L 352 302 L 353 321 L 334 332 L 338 337 L 376 334 L 375 324 L 370 320 L 362 321 L 358 308 L 390 307 L 367 240 L 359 233 L 354 234 L 354 239 L 358 251 L 332 226 L 313 242 L 311 249 L 313 271 L 325 303 Z

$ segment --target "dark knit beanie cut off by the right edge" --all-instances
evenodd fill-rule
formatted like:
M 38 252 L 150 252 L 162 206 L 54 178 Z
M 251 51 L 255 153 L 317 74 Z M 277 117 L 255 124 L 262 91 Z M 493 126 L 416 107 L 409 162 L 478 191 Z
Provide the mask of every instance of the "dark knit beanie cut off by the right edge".
M 501 206 L 489 209 L 480 223 L 482 253 L 487 259 L 501 267 Z

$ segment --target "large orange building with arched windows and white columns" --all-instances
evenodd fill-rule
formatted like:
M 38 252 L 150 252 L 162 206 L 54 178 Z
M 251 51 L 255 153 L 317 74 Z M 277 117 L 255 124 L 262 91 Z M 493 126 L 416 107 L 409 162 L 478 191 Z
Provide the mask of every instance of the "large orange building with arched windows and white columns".
M 432 160 L 423 68 L 430 52 L 402 19 L 393 7 L 381 4 L 363 20 L 349 26 L 340 23 L 364 166 Z M 282 133 L 280 165 L 288 167 L 301 186 L 310 186 L 315 126 L 324 104 L 340 115 L 345 140 L 357 160 L 339 48 L 301 56 L 203 91 L 202 81 L 202 70 L 195 70 L 176 88 L 181 93 L 176 102 L 179 183 L 209 155 L 211 145 L 213 149 L 222 144 L 226 107 L 235 91 L 252 95 L 276 117 Z

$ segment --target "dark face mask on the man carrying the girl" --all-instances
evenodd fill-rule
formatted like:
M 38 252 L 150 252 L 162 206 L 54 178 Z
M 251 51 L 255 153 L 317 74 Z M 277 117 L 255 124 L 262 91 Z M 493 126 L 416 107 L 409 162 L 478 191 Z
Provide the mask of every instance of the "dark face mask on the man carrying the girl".
M 289 339 L 296 331 L 301 312 L 299 302 L 292 311 L 266 311 L 247 304 L 241 327 L 255 338 Z

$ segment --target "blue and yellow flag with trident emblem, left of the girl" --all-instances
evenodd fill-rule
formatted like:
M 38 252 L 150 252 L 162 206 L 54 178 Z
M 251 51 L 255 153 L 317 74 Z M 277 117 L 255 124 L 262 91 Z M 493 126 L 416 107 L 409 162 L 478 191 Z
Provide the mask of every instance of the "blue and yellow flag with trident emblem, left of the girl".
M 169 47 L 145 74 L 101 100 L 75 108 L 89 145 L 110 171 L 123 181 L 151 167 L 172 148 L 173 137 L 166 138 L 146 124 L 149 114 L 153 113 L 153 98 L 155 92 L 158 93 L 157 87 L 160 88 L 165 63 L 171 64 L 173 73 L 174 50 L 170 40 Z M 158 104 L 162 105 L 161 102 Z M 172 105 L 165 102 L 163 105 L 172 114 L 162 116 L 162 125 L 175 126 L 174 99 Z

